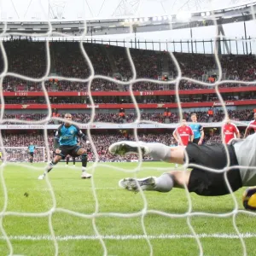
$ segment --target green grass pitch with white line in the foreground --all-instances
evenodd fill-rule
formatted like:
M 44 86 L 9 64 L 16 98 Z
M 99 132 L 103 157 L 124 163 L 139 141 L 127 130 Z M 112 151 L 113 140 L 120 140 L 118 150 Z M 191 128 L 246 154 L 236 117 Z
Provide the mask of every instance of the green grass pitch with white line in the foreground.
M 77 166 L 80 164 L 78 163 Z M 91 167 L 92 164 L 89 166 Z M 2 169 L 8 193 L 5 212 L 20 213 L 19 216 L 7 214 L 2 218 L 3 229 L 10 237 L 13 253 L 16 255 L 55 255 L 54 242 L 49 239 L 49 223 L 52 224 L 55 236 L 58 237 L 58 255 L 103 255 L 102 243 L 95 237 L 95 229 L 103 236 L 108 255 L 149 255 L 148 241 L 142 237 L 143 224 L 150 237 L 154 255 L 199 255 L 200 250 L 195 238 L 189 237 L 192 232 L 189 230 L 188 222 L 199 236 L 202 234 L 210 236 L 200 238 L 204 255 L 242 255 L 239 239 L 217 236 L 236 235 L 233 216 L 171 218 L 156 212 L 148 212 L 142 218 L 141 215 L 136 214 L 146 207 L 143 196 L 140 193 L 134 194 L 119 189 L 118 181 L 122 177 L 134 176 L 135 173 L 131 171 L 135 170 L 137 163 L 100 164 L 94 169 L 92 180 L 80 179 L 79 167 L 65 168 L 60 164 L 49 173 L 57 211 L 52 215 L 49 213 L 41 217 L 22 216 L 21 214 L 26 212 L 48 212 L 54 206 L 48 183 L 46 180 L 38 180 L 38 175 L 44 172 L 44 164 L 34 164 L 32 167 L 29 164 L 9 164 Z M 159 162 L 143 163 L 143 169 L 137 172 L 137 177 L 158 176 L 169 168 L 172 169 L 172 166 Z M 92 182 L 96 188 L 96 198 L 93 194 Z M 0 209 L 3 211 L 5 198 L 3 180 L 0 186 Z M 241 210 L 243 190 L 240 189 L 235 194 Z M 27 197 L 25 193 L 28 194 Z M 165 194 L 145 192 L 144 195 L 148 210 L 177 214 L 177 217 L 188 212 L 189 200 L 183 189 L 173 189 Z M 190 198 L 192 212 L 229 213 L 235 207 L 230 195 L 201 197 L 190 194 Z M 81 213 L 81 216 L 64 212 L 62 209 Z M 96 211 L 104 214 L 92 218 L 92 214 Z M 108 214 L 113 212 L 130 213 L 131 216 L 126 215 L 126 218 L 122 218 Z M 255 234 L 256 216 L 239 212 L 236 215 L 236 225 L 243 234 Z M 9 255 L 8 243 L 3 239 L 1 232 L 0 236 L 2 236 L 0 255 Z M 44 239 L 40 240 L 43 236 Z M 79 236 L 83 236 L 83 239 L 79 239 Z M 110 236 L 112 239 L 109 239 Z M 124 239 L 127 236 L 130 236 L 130 239 Z M 256 255 L 256 236 L 245 238 L 244 241 L 247 255 Z

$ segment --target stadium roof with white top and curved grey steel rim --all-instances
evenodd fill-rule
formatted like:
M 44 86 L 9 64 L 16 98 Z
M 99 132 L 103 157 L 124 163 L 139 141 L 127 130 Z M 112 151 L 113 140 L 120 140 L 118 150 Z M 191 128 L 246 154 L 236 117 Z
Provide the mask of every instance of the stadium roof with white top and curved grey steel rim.
M 168 31 L 253 20 L 256 0 L 0 0 L 0 32 L 45 37 Z M 51 25 L 49 25 L 49 21 Z

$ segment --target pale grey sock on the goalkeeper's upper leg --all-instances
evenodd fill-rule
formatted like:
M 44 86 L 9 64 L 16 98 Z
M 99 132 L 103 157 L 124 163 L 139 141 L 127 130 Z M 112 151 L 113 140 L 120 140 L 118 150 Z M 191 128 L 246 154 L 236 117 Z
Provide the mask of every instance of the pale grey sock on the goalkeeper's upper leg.
M 150 150 L 150 155 L 154 160 L 170 161 L 171 148 L 162 143 L 147 143 Z

